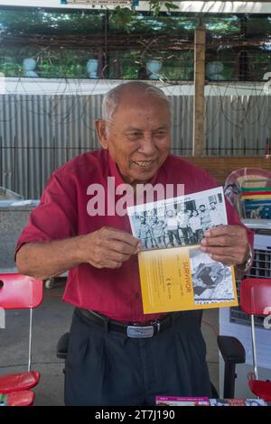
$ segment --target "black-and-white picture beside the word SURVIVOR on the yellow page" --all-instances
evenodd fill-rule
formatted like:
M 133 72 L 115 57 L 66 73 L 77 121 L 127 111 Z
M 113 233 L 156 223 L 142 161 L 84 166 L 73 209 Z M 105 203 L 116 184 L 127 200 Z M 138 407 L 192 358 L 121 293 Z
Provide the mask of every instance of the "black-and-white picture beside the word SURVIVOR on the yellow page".
M 189 253 L 195 304 L 234 300 L 230 266 L 213 261 L 198 248 Z

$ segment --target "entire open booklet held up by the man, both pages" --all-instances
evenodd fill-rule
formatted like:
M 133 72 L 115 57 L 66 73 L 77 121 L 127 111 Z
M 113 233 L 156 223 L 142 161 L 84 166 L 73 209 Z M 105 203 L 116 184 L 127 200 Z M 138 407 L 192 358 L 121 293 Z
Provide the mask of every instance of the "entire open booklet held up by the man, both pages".
M 221 187 L 127 207 L 145 314 L 238 305 L 234 269 L 201 252 L 204 231 L 228 223 Z

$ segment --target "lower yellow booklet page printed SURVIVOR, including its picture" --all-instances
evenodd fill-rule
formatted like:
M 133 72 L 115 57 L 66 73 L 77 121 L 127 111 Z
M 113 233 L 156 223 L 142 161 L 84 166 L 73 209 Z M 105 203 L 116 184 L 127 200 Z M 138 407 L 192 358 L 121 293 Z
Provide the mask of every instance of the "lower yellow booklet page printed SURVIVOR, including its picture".
M 238 305 L 233 267 L 211 260 L 193 266 L 192 250 L 199 249 L 174 247 L 139 253 L 145 314 Z

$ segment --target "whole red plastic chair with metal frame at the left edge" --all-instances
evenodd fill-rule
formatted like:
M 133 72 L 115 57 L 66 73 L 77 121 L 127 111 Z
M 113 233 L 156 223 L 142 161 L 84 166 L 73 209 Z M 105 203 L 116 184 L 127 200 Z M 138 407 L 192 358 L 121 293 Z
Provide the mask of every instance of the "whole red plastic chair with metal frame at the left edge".
M 33 308 L 37 308 L 41 303 L 42 281 L 18 273 L 0 274 L 0 308 L 30 309 L 28 372 L 0 375 L 0 393 L 28 391 L 39 383 L 40 373 L 31 371 L 31 355 Z M 28 401 L 32 397 L 31 393 L 27 394 Z M 16 399 L 19 400 L 19 398 L 18 395 Z

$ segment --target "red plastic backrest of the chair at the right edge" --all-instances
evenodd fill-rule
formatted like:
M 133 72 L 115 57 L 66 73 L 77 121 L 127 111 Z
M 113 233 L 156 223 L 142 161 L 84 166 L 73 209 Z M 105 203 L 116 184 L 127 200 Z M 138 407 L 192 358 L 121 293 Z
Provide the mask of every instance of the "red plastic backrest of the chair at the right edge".
M 243 280 L 240 285 L 240 307 L 249 315 L 271 314 L 271 279 Z

